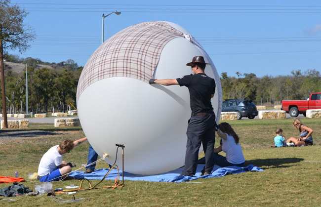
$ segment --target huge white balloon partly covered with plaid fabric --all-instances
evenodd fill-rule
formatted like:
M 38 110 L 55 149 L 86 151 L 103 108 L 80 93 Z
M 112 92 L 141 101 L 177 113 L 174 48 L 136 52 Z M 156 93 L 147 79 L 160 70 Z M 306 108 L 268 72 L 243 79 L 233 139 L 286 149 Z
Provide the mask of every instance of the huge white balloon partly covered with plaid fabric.
M 149 79 L 176 79 L 191 74 L 194 56 L 211 63 L 212 105 L 217 123 L 222 89 L 213 62 L 197 41 L 171 22 L 145 22 L 120 31 L 89 58 L 78 84 L 80 122 L 90 144 L 106 162 L 116 159 L 123 144 L 124 171 L 156 174 L 184 165 L 187 121 L 191 116 L 188 88 L 148 84 Z M 202 150 L 202 149 L 201 149 Z M 117 158 L 121 166 L 121 153 Z

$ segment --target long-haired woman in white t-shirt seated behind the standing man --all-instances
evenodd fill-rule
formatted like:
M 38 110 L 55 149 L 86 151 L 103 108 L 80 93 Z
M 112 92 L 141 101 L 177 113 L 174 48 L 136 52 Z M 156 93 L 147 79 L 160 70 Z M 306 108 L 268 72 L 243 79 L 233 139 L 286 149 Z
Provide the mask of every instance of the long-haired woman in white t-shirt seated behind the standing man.
M 242 153 L 240 138 L 235 133 L 232 126 L 226 122 L 219 124 L 219 130 L 216 132 L 220 137 L 220 146 L 214 148 L 214 163 L 215 165 L 226 166 L 244 166 L 244 156 Z M 219 152 L 225 152 L 226 157 L 219 155 Z M 199 164 L 205 164 L 204 158 L 201 158 Z

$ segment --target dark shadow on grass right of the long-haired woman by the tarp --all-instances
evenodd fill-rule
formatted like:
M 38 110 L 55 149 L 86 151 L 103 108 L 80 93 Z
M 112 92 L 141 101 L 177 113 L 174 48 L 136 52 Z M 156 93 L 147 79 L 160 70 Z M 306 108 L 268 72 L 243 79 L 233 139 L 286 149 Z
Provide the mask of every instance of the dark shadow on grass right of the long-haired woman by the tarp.
M 245 161 L 244 166 L 254 165 L 262 169 L 266 168 L 284 168 L 294 165 L 284 165 L 284 164 L 294 164 L 303 161 L 303 158 L 270 158 L 270 159 L 257 159 L 257 160 L 248 160 Z M 268 167 L 261 167 L 268 166 Z

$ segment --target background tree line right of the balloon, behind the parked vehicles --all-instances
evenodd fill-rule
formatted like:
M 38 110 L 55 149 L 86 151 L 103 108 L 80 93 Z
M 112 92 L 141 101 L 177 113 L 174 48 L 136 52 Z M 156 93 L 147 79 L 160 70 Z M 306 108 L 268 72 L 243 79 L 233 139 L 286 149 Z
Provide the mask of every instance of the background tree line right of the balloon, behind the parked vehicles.
M 287 76 L 263 76 L 239 72 L 237 77 L 221 74 L 224 99 L 245 98 L 257 105 L 280 104 L 282 100 L 307 99 L 312 92 L 321 91 L 321 75 L 316 69 L 292 71 Z

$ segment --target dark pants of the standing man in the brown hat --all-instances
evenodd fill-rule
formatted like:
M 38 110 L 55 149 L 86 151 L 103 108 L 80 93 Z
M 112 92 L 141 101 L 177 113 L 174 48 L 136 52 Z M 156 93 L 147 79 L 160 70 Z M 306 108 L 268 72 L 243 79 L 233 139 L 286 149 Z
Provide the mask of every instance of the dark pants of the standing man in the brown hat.
M 211 172 L 214 167 L 215 114 L 191 117 L 187 127 L 187 144 L 185 168 L 182 175 L 193 176 L 199 159 L 201 143 L 205 154 L 205 171 Z

